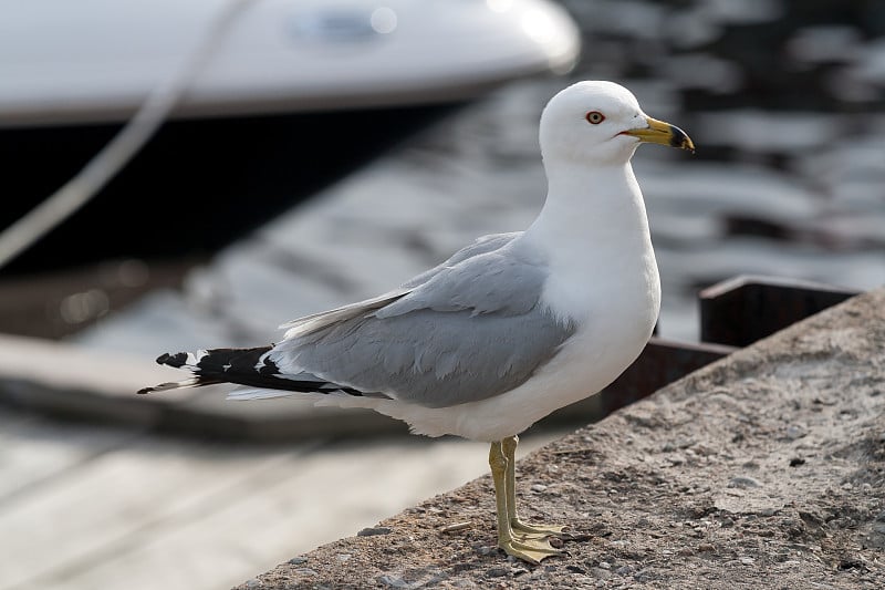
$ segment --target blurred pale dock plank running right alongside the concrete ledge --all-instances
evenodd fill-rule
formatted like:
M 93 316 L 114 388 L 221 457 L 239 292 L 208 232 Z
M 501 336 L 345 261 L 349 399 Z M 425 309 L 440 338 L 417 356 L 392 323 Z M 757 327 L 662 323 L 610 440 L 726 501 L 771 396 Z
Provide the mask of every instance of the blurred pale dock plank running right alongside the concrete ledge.
M 256 477 L 228 490 L 230 503 L 181 515 L 149 539 L 117 547 L 94 567 L 41 579 L 40 587 L 225 588 L 381 515 L 470 480 L 486 470 L 486 444 L 444 441 L 333 445 L 280 465 L 281 479 Z M 529 446 L 529 445 L 527 445 Z M 534 445 L 531 445 L 534 447 Z

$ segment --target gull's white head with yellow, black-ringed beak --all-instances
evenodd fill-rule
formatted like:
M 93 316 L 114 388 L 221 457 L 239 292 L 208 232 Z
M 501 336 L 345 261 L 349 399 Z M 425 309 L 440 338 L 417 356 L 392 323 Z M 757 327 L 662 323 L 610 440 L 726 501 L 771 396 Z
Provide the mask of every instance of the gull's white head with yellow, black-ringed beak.
M 626 164 L 641 143 L 695 152 L 683 130 L 646 115 L 627 89 L 595 80 L 572 84 L 550 100 L 540 139 L 545 162 L 585 165 Z

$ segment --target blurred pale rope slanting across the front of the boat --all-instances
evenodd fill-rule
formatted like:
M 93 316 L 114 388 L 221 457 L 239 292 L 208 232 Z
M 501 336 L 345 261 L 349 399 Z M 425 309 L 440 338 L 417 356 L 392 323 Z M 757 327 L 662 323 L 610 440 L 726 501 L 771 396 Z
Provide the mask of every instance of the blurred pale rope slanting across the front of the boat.
M 0 232 L 0 268 L 88 203 L 144 147 L 169 116 L 240 11 L 252 0 L 229 0 L 180 69 L 162 81 L 107 145 L 55 193 Z

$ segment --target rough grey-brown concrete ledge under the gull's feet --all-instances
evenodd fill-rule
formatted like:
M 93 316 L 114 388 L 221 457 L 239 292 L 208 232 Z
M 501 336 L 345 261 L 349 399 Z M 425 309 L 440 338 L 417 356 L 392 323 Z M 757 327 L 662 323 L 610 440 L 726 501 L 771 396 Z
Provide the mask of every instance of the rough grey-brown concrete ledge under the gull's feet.
M 885 290 L 542 448 L 518 486 L 568 557 L 500 553 L 486 477 L 240 588 L 885 588 Z

